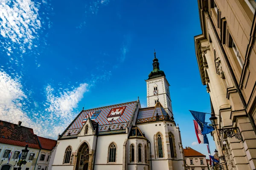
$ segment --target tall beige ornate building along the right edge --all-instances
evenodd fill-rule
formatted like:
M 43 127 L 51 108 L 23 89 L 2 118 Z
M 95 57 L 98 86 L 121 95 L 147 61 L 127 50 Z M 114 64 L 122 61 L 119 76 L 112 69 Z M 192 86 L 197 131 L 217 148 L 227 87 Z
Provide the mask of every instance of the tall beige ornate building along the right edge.
M 254 0 L 198 0 L 195 52 L 225 170 L 256 169 L 255 7 Z

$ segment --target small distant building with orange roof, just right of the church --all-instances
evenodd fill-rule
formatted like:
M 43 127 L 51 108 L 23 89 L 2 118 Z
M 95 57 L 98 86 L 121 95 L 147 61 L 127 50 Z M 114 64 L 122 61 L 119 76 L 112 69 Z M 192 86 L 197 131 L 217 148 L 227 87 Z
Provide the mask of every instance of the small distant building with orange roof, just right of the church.
M 208 170 L 206 156 L 191 147 L 184 149 L 186 170 Z

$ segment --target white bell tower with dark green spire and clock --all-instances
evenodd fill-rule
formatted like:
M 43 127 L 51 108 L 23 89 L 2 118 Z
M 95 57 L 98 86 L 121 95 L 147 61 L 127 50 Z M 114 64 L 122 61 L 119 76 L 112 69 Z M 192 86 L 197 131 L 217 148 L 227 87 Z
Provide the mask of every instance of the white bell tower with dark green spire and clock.
M 172 114 L 172 101 L 169 92 L 169 82 L 166 75 L 160 70 L 159 62 L 154 51 L 153 71 L 148 75 L 147 83 L 147 107 L 154 107 L 159 101 L 163 108 L 171 117 Z

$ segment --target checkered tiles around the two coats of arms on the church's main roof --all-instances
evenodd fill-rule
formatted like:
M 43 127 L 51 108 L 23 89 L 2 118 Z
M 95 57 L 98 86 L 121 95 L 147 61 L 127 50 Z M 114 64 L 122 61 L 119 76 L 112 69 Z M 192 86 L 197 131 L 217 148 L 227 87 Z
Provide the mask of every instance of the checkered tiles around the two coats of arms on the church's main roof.
M 83 126 L 82 125 L 83 119 L 85 117 L 88 117 L 90 113 L 95 112 L 95 111 L 101 111 L 101 113 L 99 113 L 99 116 L 97 116 L 97 118 L 93 120 L 95 122 L 98 122 L 99 126 L 115 125 L 115 124 L 119 124 L 119 123 L 130 122 L 130 119 L 131 119 L 132 113 L 134 111 L 134 108 L 136 106 L 136 103 L 137 103 L 137 101 L 134 101 L 134 102 L 122 103 L 122 104 L 118 104 L 118 105 L 111 105 L 111 106 L 106 106 L 106 107 L 102 107 L 102 108 L 95 108 L 95 109 L 82 111 L 80 113 L 80 115 L 77 117 L 77 119 L 68 128 L 68 130 L 81 129 Z M 126 108 L 125 108 L 125 111 L 122 114 L 122 116 L 120 116 L 119 119 L 116 119 L 113 122 L 108 122 L 107 116 L 108 116 L 108 113 L 111 111 L 111 109 L 124 107 L 124 106 L 126 106 Z

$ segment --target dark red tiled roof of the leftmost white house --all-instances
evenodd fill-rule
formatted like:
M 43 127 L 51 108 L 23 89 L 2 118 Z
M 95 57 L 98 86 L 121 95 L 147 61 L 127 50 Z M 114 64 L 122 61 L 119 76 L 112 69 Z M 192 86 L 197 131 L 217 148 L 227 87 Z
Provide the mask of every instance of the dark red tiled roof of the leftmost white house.
M 0 120 L 0 143 L 40 149 L 32 128 Z

